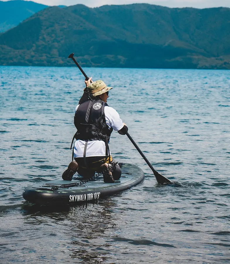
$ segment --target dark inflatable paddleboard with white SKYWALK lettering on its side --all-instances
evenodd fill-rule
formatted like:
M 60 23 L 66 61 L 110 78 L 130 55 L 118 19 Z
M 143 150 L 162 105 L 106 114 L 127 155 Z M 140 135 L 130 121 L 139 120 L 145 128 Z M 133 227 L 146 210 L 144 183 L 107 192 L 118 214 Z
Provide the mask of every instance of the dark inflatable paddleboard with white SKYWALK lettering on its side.
M 122 174 L 115 183 L 105 183 L 102 175 L 84 184 L 80 178 L 74 178 L 72 181 L 58 179 L 26 187 L 23 198 L 32 204 L 40 205 L 77 204 L 112 196 L 144 181 L 144 172 L 136 165 L 119 165 Z

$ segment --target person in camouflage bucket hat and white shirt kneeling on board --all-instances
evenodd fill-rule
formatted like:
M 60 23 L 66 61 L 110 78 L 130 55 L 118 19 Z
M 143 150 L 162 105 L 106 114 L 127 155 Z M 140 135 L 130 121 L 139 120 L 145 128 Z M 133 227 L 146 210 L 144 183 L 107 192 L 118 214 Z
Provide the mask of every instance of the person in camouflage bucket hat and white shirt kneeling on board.
M 71 181 L 76 172 L 85 179 L 95 175 L 95 172 L 102 172 L 104 182 L 113 183 L 120 179 L 121 169 L 110 155 L 110 135 L 113 129 L 125 135 L 128 128 L 117 111 L 107 104 L 112 87 L 107 87 L 102 80 L 91 83 L 91 78 L 85 80 L 85 83 L 85 98 L 80 99 L 74 116 L 74 125 L 77 128 L 74 135 L 74 161 L 64 171 L 62 179 Z M 88 99 L 85 96 L 87 91 Z

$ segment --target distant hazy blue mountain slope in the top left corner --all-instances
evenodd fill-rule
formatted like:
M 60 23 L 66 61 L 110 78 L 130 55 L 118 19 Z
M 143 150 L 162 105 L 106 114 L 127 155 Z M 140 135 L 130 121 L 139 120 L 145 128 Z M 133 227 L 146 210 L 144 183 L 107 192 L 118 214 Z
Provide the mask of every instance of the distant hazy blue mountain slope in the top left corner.
M 26 18 L 46 7 L 32 1 L 0 1 L 0 32 L 5 32 L 17 26 Z

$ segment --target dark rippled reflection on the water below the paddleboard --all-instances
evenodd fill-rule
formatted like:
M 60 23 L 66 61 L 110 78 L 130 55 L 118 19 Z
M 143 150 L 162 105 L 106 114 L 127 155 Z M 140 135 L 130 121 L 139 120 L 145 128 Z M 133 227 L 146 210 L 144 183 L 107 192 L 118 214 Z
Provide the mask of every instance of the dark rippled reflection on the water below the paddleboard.
M 47 207 L 26 204 L 22 214 L 28 226 L 59 226 L 59 235 L 67 239 L 71 258 L 78 258 L 83 263 L 102 263 L 109 260 L 108 253 L 112 241 L 107 241 L 106 234 L 116 230 L 121 219 L 114 214 L 117 204 L 111 200 L 87 202 L 65 207 Z M 48 227 L 49 229 L 49 227 Z M 50 230 L 47 232 L 50 232 Z M 50 233 L 50 236 L 57 234 Z

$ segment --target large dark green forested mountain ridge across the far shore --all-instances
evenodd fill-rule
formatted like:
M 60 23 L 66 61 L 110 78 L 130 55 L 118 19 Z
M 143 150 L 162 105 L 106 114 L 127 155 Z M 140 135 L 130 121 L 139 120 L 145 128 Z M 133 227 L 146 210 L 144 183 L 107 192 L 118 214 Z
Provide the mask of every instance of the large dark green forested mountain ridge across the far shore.
M 229 8 L 48 7 L 0 35 L 0 64 L 230 69 L 229 32 Z

